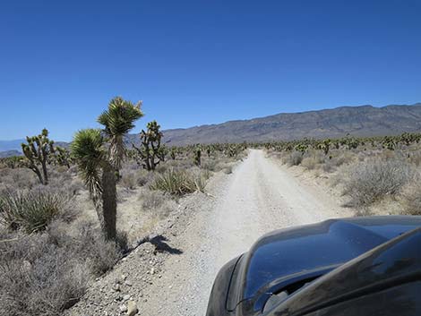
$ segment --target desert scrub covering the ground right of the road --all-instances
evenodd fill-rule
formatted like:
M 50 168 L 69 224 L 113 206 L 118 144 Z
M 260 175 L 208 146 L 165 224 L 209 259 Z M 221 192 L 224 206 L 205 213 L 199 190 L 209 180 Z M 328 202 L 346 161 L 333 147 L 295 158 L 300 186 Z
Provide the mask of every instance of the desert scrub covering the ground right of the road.
M 267 143 L 272 157 L 329 178 L 357 215 L 421 215 L 421 134 Z

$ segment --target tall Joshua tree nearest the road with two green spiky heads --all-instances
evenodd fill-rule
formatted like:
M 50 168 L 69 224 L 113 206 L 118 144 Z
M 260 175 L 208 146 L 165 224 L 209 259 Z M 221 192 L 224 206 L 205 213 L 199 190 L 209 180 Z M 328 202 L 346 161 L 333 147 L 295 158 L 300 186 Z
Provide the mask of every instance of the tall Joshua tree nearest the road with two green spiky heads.
M 107 239 L 116 239 L 116 182 L 125 158 L 125 135 L 143 116 L 142 101 L 133 105 L 113 98 L 98 117 L 104 128 L 76 132 L 71 144 L 73 158 L 94 202 L 99 223 Z

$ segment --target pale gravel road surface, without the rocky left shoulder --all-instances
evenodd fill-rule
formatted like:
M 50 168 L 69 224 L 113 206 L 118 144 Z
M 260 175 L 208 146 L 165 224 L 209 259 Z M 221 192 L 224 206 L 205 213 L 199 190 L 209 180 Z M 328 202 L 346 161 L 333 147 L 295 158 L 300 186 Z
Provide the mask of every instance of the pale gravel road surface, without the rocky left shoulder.
M 287 167 L 251 150 L 234 174 L 209 188 L 191 224 L 148 289 L 142 315 L 202 316 L 212 281 L 228 260 L 245 252 L 262 234 L 286 226 L 350 216 L 315 186 L 299 184 Z

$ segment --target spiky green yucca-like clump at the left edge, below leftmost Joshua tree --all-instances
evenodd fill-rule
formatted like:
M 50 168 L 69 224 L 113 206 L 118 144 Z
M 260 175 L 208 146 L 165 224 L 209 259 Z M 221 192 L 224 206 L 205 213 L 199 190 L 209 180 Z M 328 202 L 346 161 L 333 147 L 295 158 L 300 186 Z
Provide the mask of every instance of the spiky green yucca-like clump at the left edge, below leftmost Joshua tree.
M 0 221 L 13 229 L 27 233 L 46 228 L 53 218 L 66 213 L 71 198 L 66 192 L 32 190 L 9 192 L 0 197 Z

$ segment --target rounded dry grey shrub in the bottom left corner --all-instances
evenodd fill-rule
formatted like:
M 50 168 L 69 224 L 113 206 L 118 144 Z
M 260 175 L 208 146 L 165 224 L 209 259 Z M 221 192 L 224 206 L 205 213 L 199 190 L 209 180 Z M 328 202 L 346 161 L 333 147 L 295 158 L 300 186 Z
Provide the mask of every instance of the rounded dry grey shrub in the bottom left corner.
M 47 234 L 14 235 L 0 243 L 0 314 L 53 316 L 85 292 L 89 269 Z M 9 236 L 10 237 L 10 236 Z

